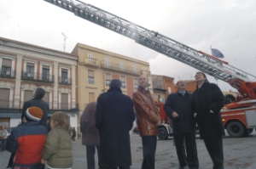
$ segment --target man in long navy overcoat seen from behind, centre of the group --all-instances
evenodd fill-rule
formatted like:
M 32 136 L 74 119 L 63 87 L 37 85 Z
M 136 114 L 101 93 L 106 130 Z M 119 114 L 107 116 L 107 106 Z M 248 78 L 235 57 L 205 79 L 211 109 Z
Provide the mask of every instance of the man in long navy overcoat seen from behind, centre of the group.
M 130 130 L 135 119 L 132 100 L 122 93 L 122 82 L 113 79 L 107 93 L 97 99 L 96 127 L 100 133 L 100 169 L 130 169 Z

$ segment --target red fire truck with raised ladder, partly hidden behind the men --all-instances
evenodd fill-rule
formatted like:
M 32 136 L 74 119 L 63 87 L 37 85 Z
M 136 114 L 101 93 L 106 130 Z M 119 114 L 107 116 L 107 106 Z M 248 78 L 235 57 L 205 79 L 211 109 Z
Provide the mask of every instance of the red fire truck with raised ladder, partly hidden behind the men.
M 177 59 L 183 64 L 214 76 L 216 79 L 230 83 L 241 95 L 238 98 L 231 95 L 225 96 L 225 107 L 222 111 L 224 127 L 231 137 L 241 137 L 253 132 L 253 128 L 256 127 L 256 76 L 239 70 L 224 60 L 190 48 L 181 42 L 161 35 L 157 31 L 150 31 L 88 3 L 79 0 L 44 1 L 63 8 L 84 20 L 129 37 L 147 48 L 172 59 Z M 161 112 L 163 110 L 162 104 L 158 106 Z M 164 113 L 161 113 L 161 116 L 165 123 L 160 127 L 160 138 L 166 138 L 168 134 L 172 134 L 172 128 L 167 125 Z M 167 136 L 164 128 L 168 133 Z

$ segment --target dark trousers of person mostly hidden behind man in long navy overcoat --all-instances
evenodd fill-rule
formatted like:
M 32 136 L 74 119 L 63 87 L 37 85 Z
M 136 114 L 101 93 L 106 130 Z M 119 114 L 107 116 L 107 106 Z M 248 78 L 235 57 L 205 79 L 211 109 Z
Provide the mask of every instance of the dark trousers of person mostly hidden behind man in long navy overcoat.
M 99 146 L 86 145 L 86 159 L 87 159 L 87 169 L 95 169 L 95 149 L 97 149 L 97 155 L 99 159 Z

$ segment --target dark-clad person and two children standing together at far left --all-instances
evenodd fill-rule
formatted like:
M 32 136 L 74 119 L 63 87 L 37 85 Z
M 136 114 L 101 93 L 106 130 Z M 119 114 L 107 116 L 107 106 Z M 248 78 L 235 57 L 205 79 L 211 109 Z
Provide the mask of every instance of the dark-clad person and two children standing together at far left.
M 44 93 L 38 87 L 34 99 L 23 105 L 22 122 L 7 138 L 6 149 L 12 153 L 7 168 L 71 169 L 73 166 L 69 116 L 55 112 L 48 127 L 49 104 L 42 100 Z

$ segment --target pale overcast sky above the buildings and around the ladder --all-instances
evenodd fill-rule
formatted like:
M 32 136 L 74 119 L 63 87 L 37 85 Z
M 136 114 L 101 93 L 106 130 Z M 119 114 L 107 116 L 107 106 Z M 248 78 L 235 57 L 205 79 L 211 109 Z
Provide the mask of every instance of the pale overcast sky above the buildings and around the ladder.
M 217 48 L 230 65 L 256 76 L 255 0 L 82 1 L 207 54 L 210 46 Z M 197 71 L 44 0 L 0 0 L 0 37 L 63 51 L 62 32 L 68 53 L 84 43 L 148 61 L 153 74 L 171 76 L 175 82 L 194 79 Z M 218 85 L 235 91 L 226 82 Z

